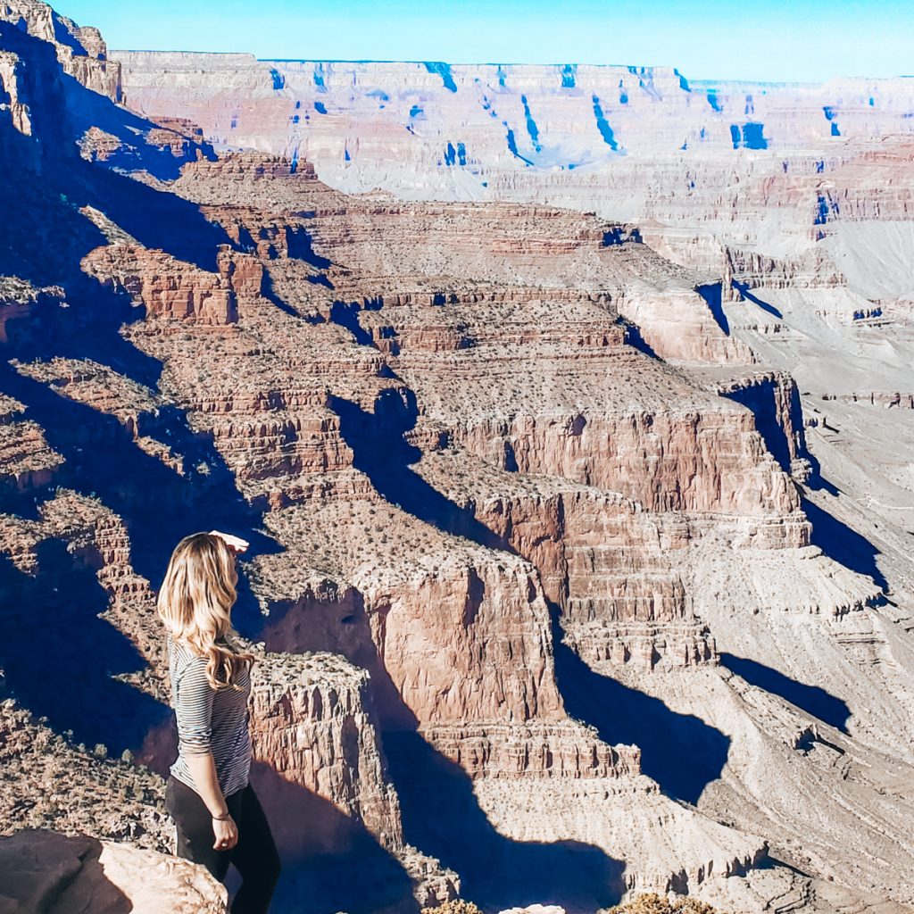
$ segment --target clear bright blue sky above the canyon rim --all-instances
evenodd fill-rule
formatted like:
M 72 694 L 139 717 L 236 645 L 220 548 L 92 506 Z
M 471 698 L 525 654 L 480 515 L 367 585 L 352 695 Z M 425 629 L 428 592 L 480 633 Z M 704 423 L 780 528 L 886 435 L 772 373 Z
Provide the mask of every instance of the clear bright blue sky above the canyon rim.
M 54 0 L 110 48 L 611 63 L 689 79 L 914 74 L 914 0 Z

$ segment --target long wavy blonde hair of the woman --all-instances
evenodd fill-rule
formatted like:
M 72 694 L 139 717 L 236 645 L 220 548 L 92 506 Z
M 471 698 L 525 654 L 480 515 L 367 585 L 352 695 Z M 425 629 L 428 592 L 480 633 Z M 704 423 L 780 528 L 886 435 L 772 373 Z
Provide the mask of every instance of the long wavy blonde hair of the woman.
M 217 644 L 234 633 L 231 608 L 238 594 L 235 556 L 222 537 L 194 533 L 175 546 L 157 608 L 175 641 L 207 657 L 207 679 L 213 688 L 240 688 L 238 677 L 254 662 L 253 654 L 233 644 Z

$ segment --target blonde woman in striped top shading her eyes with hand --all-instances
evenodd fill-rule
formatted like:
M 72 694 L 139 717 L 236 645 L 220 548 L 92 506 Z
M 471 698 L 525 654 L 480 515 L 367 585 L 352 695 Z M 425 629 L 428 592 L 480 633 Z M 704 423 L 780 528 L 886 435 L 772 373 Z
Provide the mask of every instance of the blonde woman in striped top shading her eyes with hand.
M 236 599 L 235 555 L 248 544 L 213 530 L 175 547 L 159 591 L 165 622 L 178 756 L 165 786 L 177 825 L 177 854 L 220 882 L 229 863 L 243 879 L 233 914 L 270 907 L 280 860 L 250 786 L 248 698 L 253 655 L 229 640 Z

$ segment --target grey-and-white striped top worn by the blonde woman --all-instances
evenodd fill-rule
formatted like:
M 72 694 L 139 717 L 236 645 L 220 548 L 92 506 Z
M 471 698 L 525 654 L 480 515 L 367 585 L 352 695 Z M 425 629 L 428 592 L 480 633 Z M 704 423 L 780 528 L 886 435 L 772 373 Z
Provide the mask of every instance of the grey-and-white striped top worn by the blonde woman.
M 250 774 L 250 671 L 242 667 L 237 679 L 240 688 L 214 689 L 207 679 L 207 657 L 197 656 L 186 644 L 175 642 L 171 632 L 168 670 L 178 738 L 178 756 L 171 773 L 197 791 L 187 757 L 212 752 L 222 795 L 243 790 Z

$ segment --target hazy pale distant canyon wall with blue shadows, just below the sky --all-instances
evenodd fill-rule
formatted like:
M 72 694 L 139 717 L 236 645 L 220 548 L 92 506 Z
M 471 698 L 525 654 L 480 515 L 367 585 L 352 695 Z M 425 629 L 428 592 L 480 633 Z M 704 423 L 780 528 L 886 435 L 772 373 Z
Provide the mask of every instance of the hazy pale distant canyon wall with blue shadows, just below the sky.
M 190 116 L 218 143 L 297 150 L 341 185 L 387 176 L 406 187 L 412 170 L 417 193 L 450 183 L 457 196 L 484 194 L 484 175 L 500 170 L 590 170 L 679 152 L 699 162 L 729 153 L 731 163 L 765 150 L 834 154 L 847 140 L 909 134 L 914 96 L 904 79 L 690 84 L 670 68 L 112 56 L 133 106 Z

